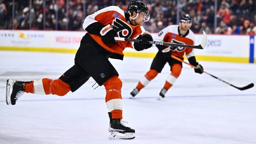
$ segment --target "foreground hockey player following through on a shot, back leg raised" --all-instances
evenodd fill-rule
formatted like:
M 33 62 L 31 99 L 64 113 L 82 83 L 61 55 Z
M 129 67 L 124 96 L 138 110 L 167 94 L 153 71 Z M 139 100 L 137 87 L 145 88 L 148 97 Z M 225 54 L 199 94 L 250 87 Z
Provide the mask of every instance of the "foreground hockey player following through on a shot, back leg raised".
M 117 6 L 103 8 L 85 18 L 83 29 L 86 33 L 75 55 L 75 64 L 60 78 L 52 80 L 43 78 L 29 82 L 7 80 L 6 103 L 15 105 L 17 99 L 24 93 L 56 94 L 64 96 L 69 91 L 79 89 L 90 77 L 104 85 L 106 89 L 106 105 L 109 110 L 110 139 L 135 138 L 135 130 L 124 126 L 122 119 L 122 81 L 118 72 L 108 58 L 123 59 L 126 47 L 137 51 L 150 48 L 152 36 L 142 27 L 149 20 L 147 6 L 140 1 L 132 1 L 125 13 Z M 142 40 L 141 42 L 124 42 L 114 40 L 114 37 L 124 37 Z M 9 94 L 9 90 L 12 93 Z M 117 136 L 122 133 L 125 136 Z

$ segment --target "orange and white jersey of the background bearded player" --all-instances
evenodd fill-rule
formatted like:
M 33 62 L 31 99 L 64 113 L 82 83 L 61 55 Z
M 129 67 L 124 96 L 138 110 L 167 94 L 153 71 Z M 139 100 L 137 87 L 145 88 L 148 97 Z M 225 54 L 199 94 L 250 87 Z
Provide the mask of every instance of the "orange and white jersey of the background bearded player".
M 195 34 L 188 30 L 185 35 L 179 35 L 179 25 L 170 25 L 163 30 L 161 30 L 158 35 L 156 36 L 156 41 L 161 42 L 173 42 L 173 43 L 180 43 L 186 45 L 194 45 L 195 42 Z M 186 52 L 187 59 L 195 56 L 194 49 L 186 48 L 186 47 L 173 47 L 170 46 L 172 54 L 183 58 L 183 55 Z M 171 55 L 170 55 L 171 56 Z

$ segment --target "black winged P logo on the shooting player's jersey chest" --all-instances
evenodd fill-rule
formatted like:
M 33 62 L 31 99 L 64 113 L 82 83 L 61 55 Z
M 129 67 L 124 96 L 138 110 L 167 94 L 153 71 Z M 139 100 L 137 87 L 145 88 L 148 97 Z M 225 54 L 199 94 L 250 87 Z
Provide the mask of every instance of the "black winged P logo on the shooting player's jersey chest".
M 117 32 L 118 36 L 121 38 L 129 38 L 133 29 L 124 21 L 119 18 L 115 18 L 112 23 L 112 28 Z

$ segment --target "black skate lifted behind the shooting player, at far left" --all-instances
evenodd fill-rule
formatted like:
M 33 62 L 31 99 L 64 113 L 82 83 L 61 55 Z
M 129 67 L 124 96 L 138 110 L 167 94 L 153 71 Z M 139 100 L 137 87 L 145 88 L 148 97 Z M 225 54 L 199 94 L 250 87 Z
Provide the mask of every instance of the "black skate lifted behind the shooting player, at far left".
M 24 94 L 24 84 L 29 82 L 7 79 L 6 81 L 6 104 L 15 105 L 18 98 Z M 10 95 L 10 89 L 12 93 Z

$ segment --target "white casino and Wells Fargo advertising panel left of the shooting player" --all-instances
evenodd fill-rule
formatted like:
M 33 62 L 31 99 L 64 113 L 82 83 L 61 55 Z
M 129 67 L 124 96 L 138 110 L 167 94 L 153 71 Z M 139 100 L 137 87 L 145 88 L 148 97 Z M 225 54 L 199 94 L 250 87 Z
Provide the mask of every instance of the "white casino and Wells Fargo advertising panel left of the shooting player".
M 0 46 L 77 49 L 85 31 L 1 30 Z

